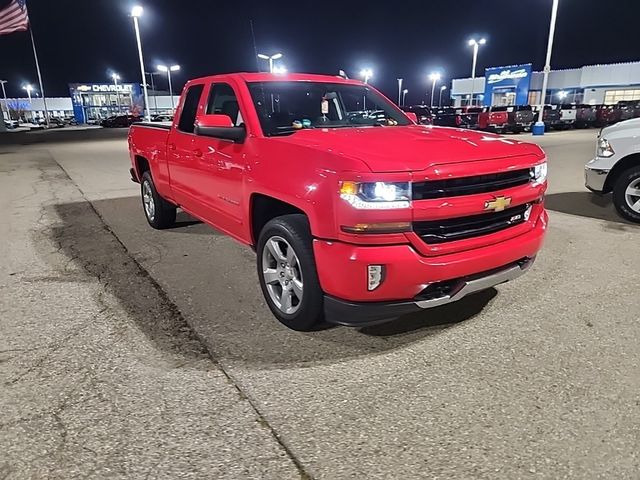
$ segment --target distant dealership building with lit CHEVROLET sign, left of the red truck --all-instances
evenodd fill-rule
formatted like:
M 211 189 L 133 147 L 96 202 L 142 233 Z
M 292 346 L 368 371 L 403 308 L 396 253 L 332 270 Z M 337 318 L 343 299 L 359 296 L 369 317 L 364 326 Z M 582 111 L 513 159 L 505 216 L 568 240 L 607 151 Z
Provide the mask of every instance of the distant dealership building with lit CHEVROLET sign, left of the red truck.
M 173 96 L 173 105 L 168 92 L 149 90 L 149 110 L 154 114 L 170 114 L 179 97 Z M 8 113 L 2 102 L 4 117 Z M 9 98 L 8 110 L 15 117 L 25 120 L 44 118 L 42 98 Z M 118 114 L 142 115 L 144 97 L 139 83 L 71 83 L 69 97 L 47 97 L 47 109 L 52 117 L 75 118 L 78 123 L 93 123 Z

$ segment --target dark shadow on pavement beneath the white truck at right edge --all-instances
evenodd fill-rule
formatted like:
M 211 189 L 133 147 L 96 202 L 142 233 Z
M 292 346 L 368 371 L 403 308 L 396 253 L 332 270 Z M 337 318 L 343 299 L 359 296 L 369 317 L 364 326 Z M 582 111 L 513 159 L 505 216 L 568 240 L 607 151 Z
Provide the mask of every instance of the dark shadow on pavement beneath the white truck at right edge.
M 545 206 L 554 212 L 569 213 L 580 217 L 607 220 L 633 226 L 616 212 L 611 195 L 596 195 L 591 192 L 562 192 L 545 196 Z

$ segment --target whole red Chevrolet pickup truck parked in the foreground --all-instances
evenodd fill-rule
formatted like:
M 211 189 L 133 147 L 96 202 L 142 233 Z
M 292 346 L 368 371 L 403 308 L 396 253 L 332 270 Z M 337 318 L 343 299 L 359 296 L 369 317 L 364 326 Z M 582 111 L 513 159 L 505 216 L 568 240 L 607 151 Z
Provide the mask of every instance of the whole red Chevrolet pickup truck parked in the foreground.
M 371 85 L 238 73 L 187 83 L 129 132 L 149 224 L 176 208 L 257 253 L 285 325 L 370 325 L 527 271 L 547 227 L 536 145 L 416 125 Z M 203 259 L 206 261 L 206 259 Z

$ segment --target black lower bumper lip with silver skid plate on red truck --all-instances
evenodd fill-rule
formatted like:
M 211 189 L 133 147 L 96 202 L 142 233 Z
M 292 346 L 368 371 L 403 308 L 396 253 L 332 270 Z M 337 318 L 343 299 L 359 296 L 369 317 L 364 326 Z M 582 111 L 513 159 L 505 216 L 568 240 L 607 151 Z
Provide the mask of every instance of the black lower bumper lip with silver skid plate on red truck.
M 324 299 L 325 318 L 331 323 L 348 327 L 384 323 L 402 315 L 453 303 L 472 293 L 514 280 L 529 270 L 534 260 L 535 257 L 523 258 L 488 272 L 454 279 L 447 282 L 446 292 L 440 289 L 438 294 L 418 296 L 411 301 L 349 302 L 326 296 Z

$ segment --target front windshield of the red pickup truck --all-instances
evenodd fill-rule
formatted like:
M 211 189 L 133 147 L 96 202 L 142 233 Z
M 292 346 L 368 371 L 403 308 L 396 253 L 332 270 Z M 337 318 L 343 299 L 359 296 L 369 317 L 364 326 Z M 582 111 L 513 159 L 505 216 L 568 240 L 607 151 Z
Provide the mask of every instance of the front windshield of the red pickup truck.
M 266 136 L 306 128 L 410 125 L 393 104 L 364 85 L 256 82 L 249 91 Z

